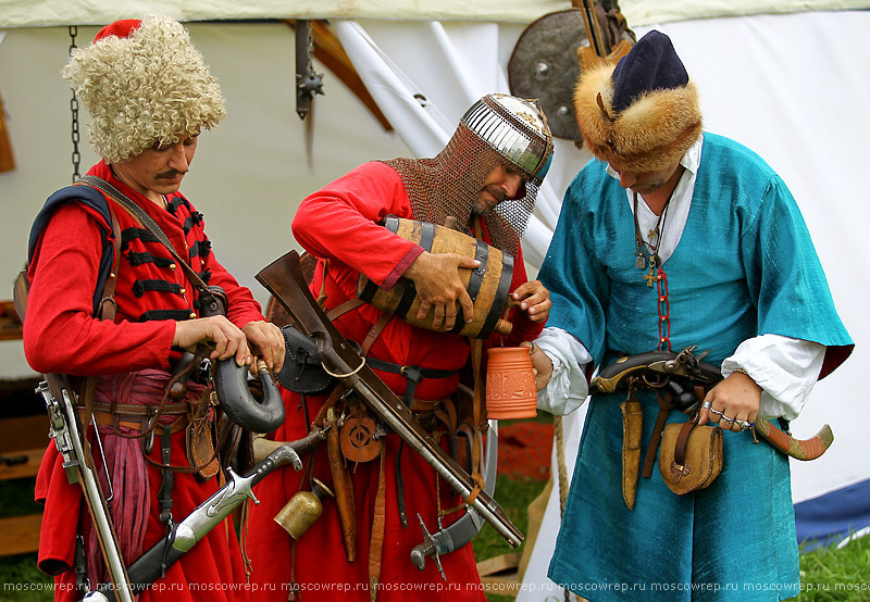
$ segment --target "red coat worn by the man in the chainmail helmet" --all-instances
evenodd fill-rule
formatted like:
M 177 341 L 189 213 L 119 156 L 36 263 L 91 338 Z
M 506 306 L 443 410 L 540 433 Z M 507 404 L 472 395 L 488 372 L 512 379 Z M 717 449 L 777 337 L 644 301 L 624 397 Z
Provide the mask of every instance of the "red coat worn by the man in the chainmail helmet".
M 382 163 L 366 163 L 321 191 L 307 198 L 294 218 L 297 240 L 319 258 L 330 258 L 326 278 L 327 309 L 356 297 L 359 274 L 384 288 L 391 287 L 422 248 L 403 240 L 376 224 L 386 215 L 411 217 L 411 206 L 398 174 Z M 525 283 L 522 256 L 514 262 L 511 290 Z M 323 281 L 323 263 L 318 267 L 311 289 L 316 293 Z M 377 321 L 381 312 L 363 305 L 335 321 L 338 329 L 349 339 L 362 341 Z M 529 321 L 524 314 L 511 316 L 514 324 L 510 340 L 517 344 L 537 337 L 543 325 Z M 500 342 L 494 335 L 493 344 Z M 450 334 L 424 330 L 394 317 L 390 319 L 369 353 L 370 356 L 400 365 L 458 371 L 469 359 L 468 339 Z M 398 394 L 405 392 L 403 377 L 378 372 L 384 381 Z M 424 379 L 415 399 L 438 400 L 449 396 L 459 376 Z M 274 434 L 277 440 L 294 440 L 306 435 L 306 419 L 299 411 L 299 397 L 284 392 L 287 422 Z M 323 403 L 322 398 L 309 398 L 309 417 L 313 418 Z M 449 486 L 414 451 L 405 446 L 401 453 L 401 474 L 408 527 L 398 519 L 396 496 L 396 455 L 400 439 L 389 435 L 386 453 L 386 526 L 382 554 L 381 589 L 377 600 L 440 600 L 449 591 L 450 600 L 484 601 L 480 576 L 471 545 L 442 556 L 448 581 L 442 580 L 435 564 L 430 561 L 424 570 L 414 567 L 410 560 L 412 548 L 422 542 L 418 513 L 431 531 L 437 530 L 436 479 L 442 494 L 440 507 L 453 507 L 460 499 L 449 492 Z M 294 542 L 273 517 L 300 489 L 300 475 L 293 469 L 264 479 L 254 491 L 261 500 L 251 509 L 251 528 L 247 550 L 251 557 L 252 584 L 263 600 L 284 601 L 287 585 L 295 579 L 301 589 L 302 600 L 368 601 L 369 548 L 372 516 L 378 486 L 380 460 L 359 464 L 352 468 L 358 523 L 358 556 L 348 563 L 345 556 L 336 506 L 331 500 L 323 503 L 323 515 L 299 541 Z M 332 482 L 324 446 L 315 453 L 313 475 Z M 309 490 L 308 480 L 302 486 Z M 449 525 L 461 516 L 456 512 L 447 516 Z M 295 548 L 295 554 L 293 552 Z M 294 559 L 291 561 L 291 559 Z M 448 590 L 449 588 L 449 590 Z M 340 591 L 341 593 L 336 593 Z M 268 593 L 263 593 L 268 592 Z

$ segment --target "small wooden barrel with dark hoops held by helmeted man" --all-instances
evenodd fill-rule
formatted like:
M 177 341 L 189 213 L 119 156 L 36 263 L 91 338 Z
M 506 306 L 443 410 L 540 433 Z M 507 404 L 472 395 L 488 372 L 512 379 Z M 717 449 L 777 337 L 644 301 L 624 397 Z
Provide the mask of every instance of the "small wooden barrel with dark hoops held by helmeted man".
M 431 253 L 458 253 L 481 262 L 480 267 L 475 269 L 459 268 L 459 277 L 474 303 L 474 317 L 467 324 L 462 312 L 459 312 L 451 333 L 478 339 L 488 337 L 493 331 L 502 335 L 510 333 L 511 325 L 501 319 L 501 313 L 508 302 L 508 291 L 513 276 L 512 256 L 482 240 L 445 226 L 395 216 L 387 217 L 385 226 L 391 233 L 417 242 Z M 399 278 L 396 285 L 386 291 L 360 275 L 357 296 L 378 310 L 400 316 L 409 324 L 427 330 L 444 331 L 443 328 L 432 327 L 434 309 L 430 310 L 425 319 L 417 318 L 420 300 L 417 298 L 414 284 L 409 278 Z

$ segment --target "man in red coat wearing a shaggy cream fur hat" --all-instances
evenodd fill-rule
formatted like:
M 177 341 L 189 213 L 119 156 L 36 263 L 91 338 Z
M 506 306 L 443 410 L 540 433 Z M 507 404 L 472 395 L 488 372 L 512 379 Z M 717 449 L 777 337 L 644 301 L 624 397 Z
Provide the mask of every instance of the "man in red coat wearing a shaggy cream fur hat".
M 89 186 L 52 196 L 34 224 L 25 354 L 41 373 L 96 377 L 94 423 L 105 465 L 96 444 L 95 463 L 107 497 L 113 493 L 110 514 L 123 562 L 129 565 L 166 535 L 170 521 L 184 518 L 222 480 L 170 471 L 172 484 L 159 494 L 170 474 L 161 465 L 190 466 L 185 441 L 189 415 L 199 405 L 208 424 L 211 412 L 203 404 L 208 390 L 191 382 L 185 399 L 165 404 L 150 452 L 144 444 L 150 436 L 137 438 L 149 430 L 174 361 L 206 342 L 213 344 L 213 360 L 235 358 L 246 365 L 256 351 L 278 369 L 284 342 L 250 291 L 214 258 L 202 214 L 178 192 L 201 128 L 224 116 L 220 88 L 187 32 L 169 18 L 116 22 L 89 47 L 74 51 L 63 73 L 90 114 L 90 141 L 102 156 L 88 175 L 132 199 L 199 278 L 222 287 L 228 299 L 226 316 L 199 317 L 195 284 L 167 248 Z M 112 286 L 114 318 L 100 319 L 107 305 L 100 299 Z M 94 431 L 90 436 L 96 443 Z M 57 576 L 55 599 L 80 598 L 76 573 L 82 570 L 79 577 L 86 576 L 91 589 L 107 582 L 82 491 L 67 482 L 53 443 L 40 467 L 36 498 L 45 502 L 39 565 Z M 76 563 L 77 552 L 84 563 Z M 229 519 L 139 595 L 140 601 L 248 598 Z

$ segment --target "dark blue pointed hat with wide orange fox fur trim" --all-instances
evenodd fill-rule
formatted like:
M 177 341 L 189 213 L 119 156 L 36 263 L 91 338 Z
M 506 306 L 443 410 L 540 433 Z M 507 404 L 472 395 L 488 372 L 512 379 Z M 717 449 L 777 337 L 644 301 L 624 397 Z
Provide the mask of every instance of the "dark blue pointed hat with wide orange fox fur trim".
M 581 74 L 574 110 L 589 152 L 637 173 L 674 165 L 701 133 L 695 85 L 670 38 L 657 30 L 616 66 Z

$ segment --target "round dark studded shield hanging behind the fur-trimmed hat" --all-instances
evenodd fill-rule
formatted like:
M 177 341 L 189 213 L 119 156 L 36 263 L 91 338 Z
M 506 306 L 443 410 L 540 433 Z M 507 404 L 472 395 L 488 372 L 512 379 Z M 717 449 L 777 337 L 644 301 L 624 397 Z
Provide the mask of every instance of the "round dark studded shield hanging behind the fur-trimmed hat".
M 558 138 L 582 141 L 573 95 L 580 77 L 577 48 L 588 45 L 581 10 L 568 9 L 531 23 L 508 62 L 511 93 L 536 98 Z

